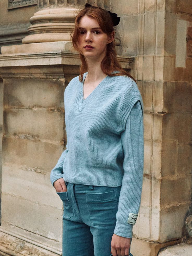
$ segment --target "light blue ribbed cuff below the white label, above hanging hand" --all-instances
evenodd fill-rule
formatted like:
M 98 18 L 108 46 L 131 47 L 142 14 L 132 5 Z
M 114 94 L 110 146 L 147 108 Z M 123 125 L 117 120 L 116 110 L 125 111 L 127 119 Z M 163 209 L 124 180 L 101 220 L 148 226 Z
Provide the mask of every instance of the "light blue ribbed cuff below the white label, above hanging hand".
M 117 220 L 113 233 L 118 236 L 132 238 L 132 235 L 133 235 L 132 230 L 133 230 L 132 224 Z

